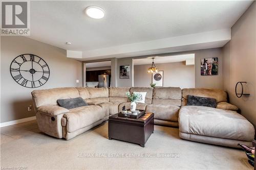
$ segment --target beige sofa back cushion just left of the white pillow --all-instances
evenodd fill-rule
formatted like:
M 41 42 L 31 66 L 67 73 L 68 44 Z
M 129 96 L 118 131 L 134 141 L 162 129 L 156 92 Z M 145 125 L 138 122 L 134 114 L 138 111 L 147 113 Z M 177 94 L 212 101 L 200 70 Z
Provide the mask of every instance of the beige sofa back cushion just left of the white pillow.
M 109 100 L 110 102 L 127 102 L 126 92 L 130 90 L 130 87 L 110 87 L 109 88 Z

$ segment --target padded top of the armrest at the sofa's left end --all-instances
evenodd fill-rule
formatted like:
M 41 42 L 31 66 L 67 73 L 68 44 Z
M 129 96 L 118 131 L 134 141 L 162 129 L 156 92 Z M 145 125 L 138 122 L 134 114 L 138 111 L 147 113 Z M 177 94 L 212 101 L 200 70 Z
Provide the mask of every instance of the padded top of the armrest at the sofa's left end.
M 69 112 L 68 109 L 57 106 L 57 105 L 44 105 L 44 106 L 38 107 L 37 110 L 49 116 L 56 116 L 61 113 Z

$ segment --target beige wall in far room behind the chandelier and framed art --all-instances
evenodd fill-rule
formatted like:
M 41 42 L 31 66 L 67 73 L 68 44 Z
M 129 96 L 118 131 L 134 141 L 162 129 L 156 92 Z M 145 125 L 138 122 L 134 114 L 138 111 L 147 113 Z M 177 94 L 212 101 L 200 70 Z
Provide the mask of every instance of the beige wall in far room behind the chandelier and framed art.
M 163 70 L 164 87 L 195 87 L 195 66 L 185 65 L 185 62 L 156 64 L 159 70 Z M 151 64 L 134 66 L 134 86 L 150 87 L 152 74 L 147 73 Z

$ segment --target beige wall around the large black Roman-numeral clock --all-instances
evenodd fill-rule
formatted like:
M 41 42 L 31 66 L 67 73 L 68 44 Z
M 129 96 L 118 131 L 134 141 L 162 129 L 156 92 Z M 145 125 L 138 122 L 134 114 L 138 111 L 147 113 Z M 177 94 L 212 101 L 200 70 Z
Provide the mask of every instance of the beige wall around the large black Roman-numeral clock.
M 12 60 L 20 54 L 31 53 L 43 58 L 50 68 L 48 82 L 39 88 L 82 85 L 82 63 L 66 57 L 66 50 L 22 36 L 1 36 L 1 123 L 34 116 L 31 91 L 17 84 L 10 74 Z M 79 83 L 76 83 L 76 79 Z

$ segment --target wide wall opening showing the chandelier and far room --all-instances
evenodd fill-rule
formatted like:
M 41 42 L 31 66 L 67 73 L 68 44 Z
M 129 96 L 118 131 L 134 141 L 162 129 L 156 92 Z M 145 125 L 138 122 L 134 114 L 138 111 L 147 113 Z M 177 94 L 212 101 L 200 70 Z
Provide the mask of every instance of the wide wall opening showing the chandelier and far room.
M 152 58 L 134 58 L 135 87 L 195 87 L 195 54 L 155 56 L 158 72 L 148 73 Z

